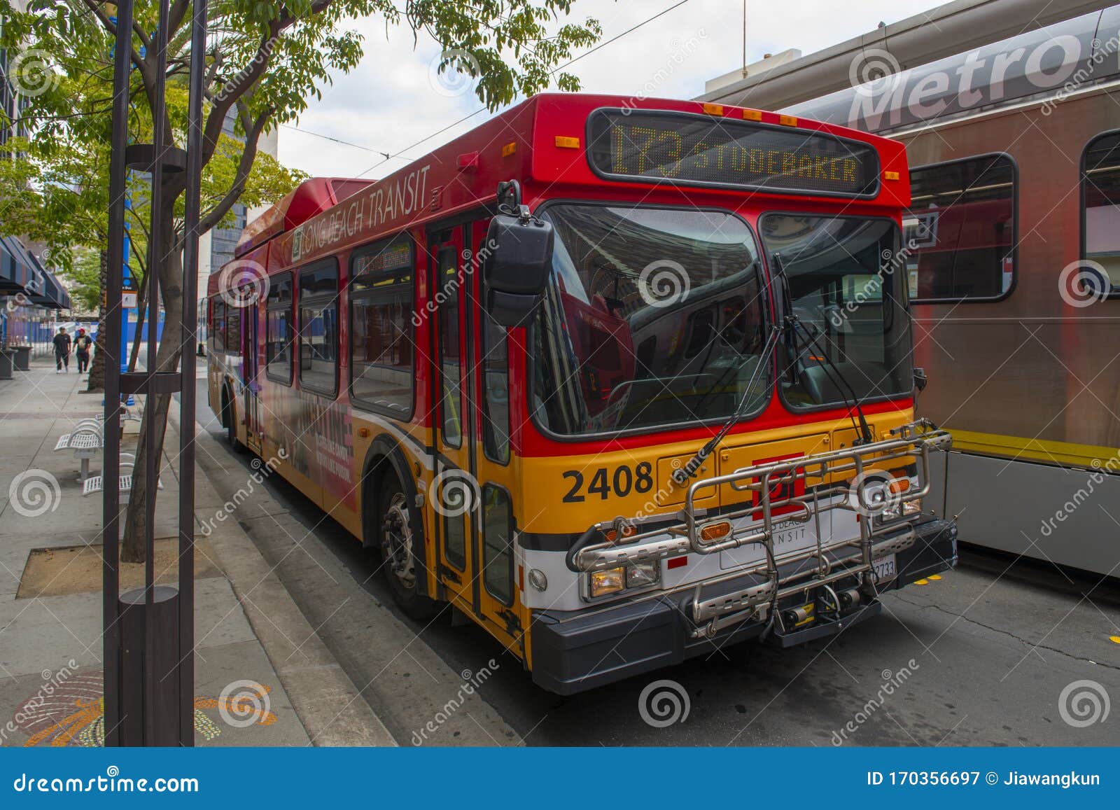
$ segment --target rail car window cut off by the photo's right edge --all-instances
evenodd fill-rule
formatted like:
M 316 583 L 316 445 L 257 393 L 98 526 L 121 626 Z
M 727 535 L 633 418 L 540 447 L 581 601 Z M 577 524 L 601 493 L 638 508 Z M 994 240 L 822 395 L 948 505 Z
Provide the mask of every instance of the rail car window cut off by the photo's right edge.
M 1089 142 L 1082 156 L 1081 258 L 1085 264 L 1077 279 L 1100 285 L 1094 291 L 1120 294 L 1120 132 L 1110 132 Z M 1099 279 L 1094 279 L 1095 271 Z M 1085 298 L 1084 300 L 1091 300 Z

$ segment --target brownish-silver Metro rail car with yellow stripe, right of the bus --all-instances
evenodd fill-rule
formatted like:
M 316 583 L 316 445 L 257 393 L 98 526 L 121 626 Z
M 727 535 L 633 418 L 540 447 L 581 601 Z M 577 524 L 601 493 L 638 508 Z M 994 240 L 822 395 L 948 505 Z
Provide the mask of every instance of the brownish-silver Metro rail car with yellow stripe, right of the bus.
M 1120 6 L 785 112 L 906 145 L 918 412 L 954 437 L 930 502 L 1120 575 Z

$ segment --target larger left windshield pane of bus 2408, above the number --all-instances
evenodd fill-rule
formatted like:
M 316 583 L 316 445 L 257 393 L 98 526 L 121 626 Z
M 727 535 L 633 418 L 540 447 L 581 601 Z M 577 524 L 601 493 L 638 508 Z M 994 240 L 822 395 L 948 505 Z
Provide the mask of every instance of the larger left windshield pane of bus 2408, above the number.
M 552 279 L 536 316 L 531 407 L 561 436 L 726 419 L 765 342 L 746 223 L 696 208 L 553 205 Z M 744 413 L 771 385 L 758 374 Z

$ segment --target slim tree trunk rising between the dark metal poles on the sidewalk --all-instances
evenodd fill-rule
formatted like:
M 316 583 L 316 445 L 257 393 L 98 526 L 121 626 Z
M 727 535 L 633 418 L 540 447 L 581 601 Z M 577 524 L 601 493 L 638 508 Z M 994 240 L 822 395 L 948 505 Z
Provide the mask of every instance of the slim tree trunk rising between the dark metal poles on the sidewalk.
M 170 195 L 165 195 L 170 196 Z M 148 369 L 159 372 L 175 372 L 179 367 L 179 355 L 183 343 L 183 254 L 172 251 L 175 244 L 175 222 L 171 204 L 168 201 L 161 212 L 162 234 L 157 254 L 166 257 L 162 261 L 149 263 L 149 277 L 159 273 L 159 292 L 164 301 L 164 334 L 156 352 L 155 363 L 148 359 Z M 153 319 L 157 328 L 159 318 Z M 194 384 L 190 380 L 187 384 Z M 148 514 L 144 511 L 146 494 L 149 486 L 156 482 L 148 481 L 148 432 L 156 431 L 156 469 L 159 471 L 164 457 L 164 438 L 167 431 L 167 415 L 171 404 L 168 394 L 144 397 L 143 419 L 140 422 L 140 436 L 137 441 L 136 466 L 132 471 L 132 491 L 129 497 L 128 515 L 124 520 L 124 542 L 121 546 L 121 561 L 143 562 L 147 549 L 144 537 L 148 530 Z M 183 425 L 181 430 L 190 430 L 193 426 Z M 188 528 L 189 530 L 189 528 Z

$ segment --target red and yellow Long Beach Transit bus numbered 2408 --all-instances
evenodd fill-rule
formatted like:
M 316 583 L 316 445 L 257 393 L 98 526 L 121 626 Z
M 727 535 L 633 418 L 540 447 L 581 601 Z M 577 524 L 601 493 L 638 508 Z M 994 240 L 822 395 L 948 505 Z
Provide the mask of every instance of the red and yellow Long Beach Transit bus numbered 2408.
M 377 181 L 305 181 L 208 287 L 209 401 L 561 693 L 881 609 L 922 510 L 895 141 L 534 96 Z M 896 272 L 902 269 L 902 272 Z

